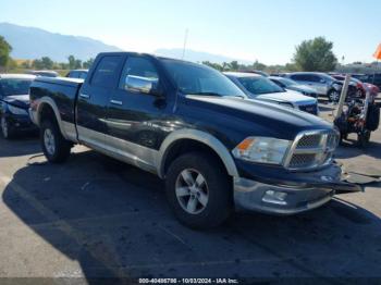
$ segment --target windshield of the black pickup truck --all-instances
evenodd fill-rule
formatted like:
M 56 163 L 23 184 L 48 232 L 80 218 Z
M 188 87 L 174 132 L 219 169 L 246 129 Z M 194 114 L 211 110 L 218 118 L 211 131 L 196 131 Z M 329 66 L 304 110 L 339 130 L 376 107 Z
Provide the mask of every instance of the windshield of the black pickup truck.
M 211 67 L 169 59 L 162 62 L 183 94 L 245 97 L 245 94 L 234 83 Z

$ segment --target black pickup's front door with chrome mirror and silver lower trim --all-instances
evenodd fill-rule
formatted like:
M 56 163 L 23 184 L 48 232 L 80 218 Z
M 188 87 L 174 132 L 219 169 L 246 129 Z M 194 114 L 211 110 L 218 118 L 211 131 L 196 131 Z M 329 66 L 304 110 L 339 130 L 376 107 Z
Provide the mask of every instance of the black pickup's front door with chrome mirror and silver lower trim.
M 128 55 L 106 120 L 108 144 L 124 160 L 147 170 L 155 169 L 155 156 L 171 132 L 163 86 L 151 58 Z

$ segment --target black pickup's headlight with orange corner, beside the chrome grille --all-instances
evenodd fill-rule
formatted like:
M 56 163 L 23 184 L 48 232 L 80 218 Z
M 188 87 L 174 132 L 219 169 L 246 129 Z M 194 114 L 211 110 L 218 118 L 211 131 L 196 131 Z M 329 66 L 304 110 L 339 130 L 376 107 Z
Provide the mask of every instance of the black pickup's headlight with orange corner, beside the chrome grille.
M 292 141 L 271 137 L 248 137 L 233 149 L 233 156 L 259 163 L 282 164 Z

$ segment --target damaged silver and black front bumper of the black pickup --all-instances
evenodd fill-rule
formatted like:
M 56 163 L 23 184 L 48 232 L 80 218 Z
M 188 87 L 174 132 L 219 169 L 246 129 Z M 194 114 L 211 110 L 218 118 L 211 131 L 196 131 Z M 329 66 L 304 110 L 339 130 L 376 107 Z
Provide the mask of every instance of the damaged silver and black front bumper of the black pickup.
M 319 173 L 319 172 L 318 172 Z M 253 210 L 272 214 L 295 214 L 318 208 L 339 193 L 361 191 L 355 184 L 341 181 L 337 166 L 317 173 L 304 173 L 306 181 L 296 183 L 293 173 L 282 183 L 262 183 L 251 178 L 234 178 L 234 202 L 237 210 Z M 327 176 L 330 173 L 331 176 Z M 330 177 L 329 179 L 327 177 Z

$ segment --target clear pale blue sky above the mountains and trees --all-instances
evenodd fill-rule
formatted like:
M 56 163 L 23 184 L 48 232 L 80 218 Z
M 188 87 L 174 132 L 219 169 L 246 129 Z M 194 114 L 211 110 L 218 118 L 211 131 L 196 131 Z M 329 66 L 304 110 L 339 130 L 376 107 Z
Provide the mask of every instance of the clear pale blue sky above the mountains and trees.
M 0 0 L 0 22 L 86 36 L 128 51 L 182 48 L 266 64 L 305 39 L 333 41 L 342 62 L 370 62 L 380 0 Z

